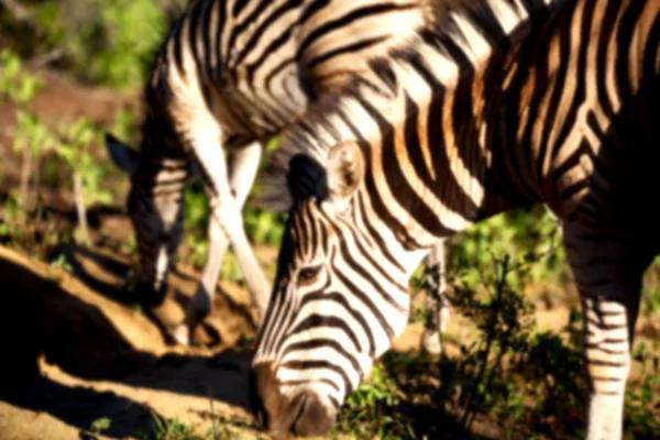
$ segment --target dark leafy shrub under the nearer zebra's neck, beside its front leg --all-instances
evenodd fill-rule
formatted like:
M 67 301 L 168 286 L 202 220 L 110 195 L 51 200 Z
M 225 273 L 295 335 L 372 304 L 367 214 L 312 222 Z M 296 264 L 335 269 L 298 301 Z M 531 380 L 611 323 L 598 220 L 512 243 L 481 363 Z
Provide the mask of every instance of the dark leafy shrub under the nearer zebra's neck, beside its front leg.
M 503 432 L 520 435 L 522 429 L 530 438 L 575 435 L 586 396 L 581 316 L 573 310 L 560 333 L 540 332 L 534 305 L 513 287 L 541 257 L 515 262 L 507 254 L 491 255 L 490 267 L 476 280 L 470 271 L 448 272 L 447 299 L 468 318 L 472 336 L 455 340 L 460 355 L 451 358 L 446 350 L 439 360 L 426 353 L 383 358 L 406 403 L 444 411 L 459 432 L 471 432 L 477 417 L 486 417 L 497 420 Z M 433 427 L 438 422 L 416 420 L 417 433 L 436 436 L 442 429 Z

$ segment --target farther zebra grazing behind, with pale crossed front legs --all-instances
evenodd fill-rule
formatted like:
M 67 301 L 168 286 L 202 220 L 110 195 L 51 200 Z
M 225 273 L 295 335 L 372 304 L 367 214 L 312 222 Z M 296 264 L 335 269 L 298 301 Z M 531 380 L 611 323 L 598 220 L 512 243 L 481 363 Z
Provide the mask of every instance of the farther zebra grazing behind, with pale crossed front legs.
M 161 304 L 167 289 L 186 179 L 202 175 L 211 208 L 209 253 L 186 322 L 166 329 L 174 342 L 191 343 L 195 326 L 209 315 L 230 244 L 261 319 L 271 287 L 241 210 L 264 143 L 427 15 L 420 0 L 199 0 L 174 23 L 144 87 L 141 148 L 106 135 L 110 157 L 131 179 L 136 289 L 147 306 Z M 424 346 L 437 353 L 438 332 L 426 327 Z

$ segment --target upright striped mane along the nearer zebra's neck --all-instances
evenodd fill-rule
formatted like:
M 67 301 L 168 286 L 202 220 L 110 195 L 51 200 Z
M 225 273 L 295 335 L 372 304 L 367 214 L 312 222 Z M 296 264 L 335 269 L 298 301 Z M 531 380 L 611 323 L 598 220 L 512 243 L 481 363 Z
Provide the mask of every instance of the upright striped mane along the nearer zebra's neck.
M 400 102 L 397 106 L 397 101 L 411 90 L 402 84 L 402 78 L 393 74 L 393 67 L 402 59 L 428 64 L 424 48 L 420 48 L 425 44 L 432 45 L 444 55 L 442 67 L 427 67 L 438 75 L 438 79 L 449 91 L 450 85 L 457 84 L 462 73 L 473 70 L 475 66 L 487 66 L 494 50 L 503 44 L 521 41 L 529 34 L 534 23 L 547 21 L 549 12 L 556 12 L 560 9 L 558 6 L 566 1 L 572 0 L 426 1 L 433 18 L 431 24 L 417 30 L 408 41 L 389 50 L 387 55 L 372 59 L 370 64 L 374 77 L 353 76 L 338 92 L 322 94 L 321 98 L 308 107 L 305 114 L 289 125 L 283 133 L 279 146 L 271 153 L 265 168 L 256 179 L 252 204 L 276 212 L 287 211 L 293 204 L 287 185 L 290 182 L 288 174 L 293 157 L 304 154 L 324 167 L 328 150 L 340 140 L 356 136 L 369 139 L 363 133 L 360 116 L 352 111 L 355 101 L 370 102 L 377 111 L 389 109 L 388 120 L 399 121 L 404 117 L 404 106 Z M 515 16 L 515 13 L 524 16 Z M 473 45 L 471 38 L 486 41 L 490 45 Z M 451 55 L 457 47 L 463 51 L 459 58 Z M 374 81 L 374 78 L 377 79 Z M 424 100 L 430 96 L 417 98 Z M 334 123 L 338 119 L 343 122 Z M 295 176 L 292 177 L 295 179 Z

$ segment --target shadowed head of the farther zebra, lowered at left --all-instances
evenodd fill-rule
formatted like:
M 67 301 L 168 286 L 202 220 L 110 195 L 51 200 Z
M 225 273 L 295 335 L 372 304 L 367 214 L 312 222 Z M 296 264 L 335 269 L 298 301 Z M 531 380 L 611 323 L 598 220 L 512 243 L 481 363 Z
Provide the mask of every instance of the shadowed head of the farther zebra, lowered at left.
M 135 287 L 145 305 L 156 306 L 165 295 L 167 271 L 183 233 L 182 191 L 188 163 L 152 155 L 144 147 L 138 152 L 108 133 L 106 146 L 131 179 L 127 208 L 140 258 Z

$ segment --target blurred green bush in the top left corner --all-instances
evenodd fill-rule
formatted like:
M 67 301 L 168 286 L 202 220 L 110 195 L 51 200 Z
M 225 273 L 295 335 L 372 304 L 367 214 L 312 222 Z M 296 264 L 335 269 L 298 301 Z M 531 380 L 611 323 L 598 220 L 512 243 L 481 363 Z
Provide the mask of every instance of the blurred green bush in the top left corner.
M 53 56 L 79 79 L 120 90 L 140 87 L 184 1 L 21 2 L 26 16 L 0 15 L 0 33 L 25 57 Z M 20 23 L 20 24 L 18 24 Z

